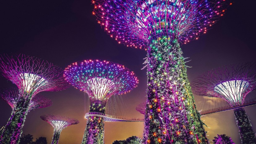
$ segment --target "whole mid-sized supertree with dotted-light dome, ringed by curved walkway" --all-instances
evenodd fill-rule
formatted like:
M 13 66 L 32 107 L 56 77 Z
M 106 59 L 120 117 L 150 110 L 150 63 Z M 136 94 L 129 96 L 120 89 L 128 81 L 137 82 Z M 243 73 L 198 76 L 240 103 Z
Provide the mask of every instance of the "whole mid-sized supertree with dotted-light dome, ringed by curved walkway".
M 104 143 L 104 118 L 106 103 L 113 95 L 126 94 L 137 86 L 133 71 L 123 65 L 100 60 L 75 62 L 65 69 L 64 77 L 72 86 L 84 91 L 91 100 L 82 143 Z

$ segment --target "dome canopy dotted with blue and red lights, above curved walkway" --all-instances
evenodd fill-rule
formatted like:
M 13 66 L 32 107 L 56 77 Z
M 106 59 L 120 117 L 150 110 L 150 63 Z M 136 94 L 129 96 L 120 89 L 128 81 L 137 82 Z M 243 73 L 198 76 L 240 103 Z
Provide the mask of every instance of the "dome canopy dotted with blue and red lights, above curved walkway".
M 123 65 L 100 60 L 75 62 L 65 69 L 64 77 L 90 98 L 125 94 L 139 82 L 134 72 Z

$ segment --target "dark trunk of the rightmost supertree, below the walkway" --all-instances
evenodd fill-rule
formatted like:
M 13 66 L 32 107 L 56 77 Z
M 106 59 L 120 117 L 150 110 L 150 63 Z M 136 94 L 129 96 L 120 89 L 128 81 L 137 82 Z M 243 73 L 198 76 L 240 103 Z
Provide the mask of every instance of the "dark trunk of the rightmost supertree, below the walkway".
M 255 144 L 256 137 L 252 129 L 249 117 L 247 116 L 244 108 L 234 110 L 237 126 L 240 131 L 240 138 L 243 144 Z

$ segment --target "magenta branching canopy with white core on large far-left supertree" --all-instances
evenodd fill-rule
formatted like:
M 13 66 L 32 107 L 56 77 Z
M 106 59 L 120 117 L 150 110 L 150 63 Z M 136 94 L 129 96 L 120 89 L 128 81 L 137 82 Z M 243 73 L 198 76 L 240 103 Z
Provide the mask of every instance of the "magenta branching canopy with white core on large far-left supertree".
M 60 67 L 25 54 L 2 54 L 0 71 L 19 90 L 33 93 L 32 97 L 41 91 L 58 91 L 68 87 Z

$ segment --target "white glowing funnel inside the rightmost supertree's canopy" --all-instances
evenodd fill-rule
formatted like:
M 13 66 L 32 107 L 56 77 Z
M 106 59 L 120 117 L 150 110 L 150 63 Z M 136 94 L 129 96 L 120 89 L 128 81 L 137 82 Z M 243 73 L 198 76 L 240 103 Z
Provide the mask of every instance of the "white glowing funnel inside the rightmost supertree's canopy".
M 242 104 L 243 94 L 248 86 L 247 81 L 232 80 L 218 84 L 214 87 L 214 91 L 224 96 L 228 102 Z

